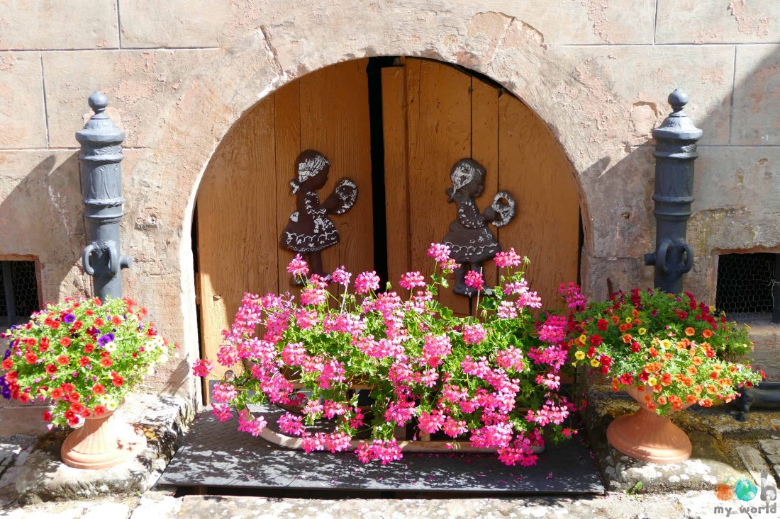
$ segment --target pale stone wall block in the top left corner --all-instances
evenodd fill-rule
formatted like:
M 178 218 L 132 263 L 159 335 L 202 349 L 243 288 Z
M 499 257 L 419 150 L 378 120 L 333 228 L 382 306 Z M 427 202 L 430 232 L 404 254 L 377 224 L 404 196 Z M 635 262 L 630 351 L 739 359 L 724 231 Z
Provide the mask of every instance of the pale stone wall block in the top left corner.
M 115 0 L 0 0 L 0 50 L 112 48 L 118 34 Z

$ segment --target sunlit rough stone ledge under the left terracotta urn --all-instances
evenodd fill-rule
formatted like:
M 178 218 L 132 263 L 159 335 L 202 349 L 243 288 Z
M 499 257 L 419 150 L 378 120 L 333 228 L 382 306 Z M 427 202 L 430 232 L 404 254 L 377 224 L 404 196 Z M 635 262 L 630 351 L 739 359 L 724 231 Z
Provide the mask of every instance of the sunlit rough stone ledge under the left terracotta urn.
M 60 461 L 59 448 L 70 432 L 55 429 L 38 438 L 16 472 L 20 504 L 87 500 L 111 494 L 137 495 L 157 482 L 194 418 L 193 403 L 168 395 L 133 394 L 118 415 L 140 426 L 147 448 L 135 459 L 104 470 L 80 470 Z

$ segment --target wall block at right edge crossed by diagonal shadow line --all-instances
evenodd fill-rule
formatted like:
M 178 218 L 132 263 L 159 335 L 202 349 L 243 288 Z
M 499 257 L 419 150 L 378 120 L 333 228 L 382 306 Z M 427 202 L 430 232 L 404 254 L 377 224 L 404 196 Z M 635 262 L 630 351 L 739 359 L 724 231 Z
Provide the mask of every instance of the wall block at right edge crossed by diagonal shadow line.
M 777 5 L 780 9 L 780 4 Z M 780 19 L 780 18 L 778 18 Z M 734 144 L 780 144 L 780 45 L 736 48 Z

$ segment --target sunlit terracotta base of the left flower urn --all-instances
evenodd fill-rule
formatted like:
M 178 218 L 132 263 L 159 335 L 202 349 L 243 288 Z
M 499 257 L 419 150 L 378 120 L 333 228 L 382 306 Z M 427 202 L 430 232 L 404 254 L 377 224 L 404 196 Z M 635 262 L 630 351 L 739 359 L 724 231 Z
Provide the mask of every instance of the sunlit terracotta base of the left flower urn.
M 146 436 L 116 418 L 114 411 L 90 416 L 62 443 L 62 461 L 73 468 L 109 468 L 135 457 L 146 447 Z

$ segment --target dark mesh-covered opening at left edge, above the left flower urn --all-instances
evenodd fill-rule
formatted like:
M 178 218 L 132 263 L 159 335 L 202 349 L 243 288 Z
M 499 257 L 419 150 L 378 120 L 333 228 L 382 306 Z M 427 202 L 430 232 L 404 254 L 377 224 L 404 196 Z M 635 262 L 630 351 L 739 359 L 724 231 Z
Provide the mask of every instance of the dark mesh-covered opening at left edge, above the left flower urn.
M 30 319 L 41 308 L 34 261 L 0 261 L 0 327 Z

